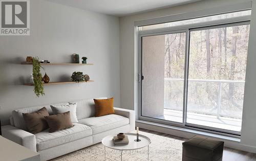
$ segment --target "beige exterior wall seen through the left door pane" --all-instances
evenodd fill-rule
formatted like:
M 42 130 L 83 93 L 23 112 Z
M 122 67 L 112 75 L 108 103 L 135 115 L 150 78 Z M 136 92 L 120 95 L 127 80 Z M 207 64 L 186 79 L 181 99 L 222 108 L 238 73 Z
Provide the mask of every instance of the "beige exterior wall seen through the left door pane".
M 163 108 L 156 107 L 164 105 L 164 41 L 164 35 L 143 37 L 142 73 L 145 78 L 142 87 L 142 104 L 145 107 L 141 110 L 143 116 L 153 118 L 163 116 Z

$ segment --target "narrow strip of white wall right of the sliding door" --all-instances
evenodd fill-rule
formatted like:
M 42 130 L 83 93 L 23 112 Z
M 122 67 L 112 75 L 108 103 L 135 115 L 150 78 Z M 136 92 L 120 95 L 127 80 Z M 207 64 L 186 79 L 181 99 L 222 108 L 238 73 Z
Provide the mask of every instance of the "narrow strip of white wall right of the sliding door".
M 245 93 L 243 107 L 243 121 L 241 142 L 244 145 L 256 147 L 256 1 L 252 2 L 250 24 L 250 37 L 247 55 L 246 77 L 245 77 Z M 256 153 L 256 152 L 255 152 Z

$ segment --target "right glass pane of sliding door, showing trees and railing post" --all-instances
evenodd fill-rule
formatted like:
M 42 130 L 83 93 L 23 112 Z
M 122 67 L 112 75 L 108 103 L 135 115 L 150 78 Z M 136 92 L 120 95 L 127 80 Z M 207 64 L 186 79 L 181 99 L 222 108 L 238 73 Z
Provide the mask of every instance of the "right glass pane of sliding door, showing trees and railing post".
M 240 131 L 249 25 L 190 31 L 186 122 Z

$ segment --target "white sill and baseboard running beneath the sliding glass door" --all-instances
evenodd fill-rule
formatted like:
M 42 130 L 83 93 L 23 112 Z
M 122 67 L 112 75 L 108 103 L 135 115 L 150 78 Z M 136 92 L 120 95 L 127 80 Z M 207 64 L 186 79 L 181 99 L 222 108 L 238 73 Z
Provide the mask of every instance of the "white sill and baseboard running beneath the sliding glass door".
M 191 130 L 191 129 L 186 129 L 182 127 L 174 127 L 174 126 L 163 125 L 163 124 L 152 123 L 152 122 L 141 121 L 141 120 L 136 121 L 136 127 L 157 131 L 157 132 L 162 132 L 162 133 L 167 133 L 170 135 L 180 136 L 187 139 L 195 135 L 203 135 L 203 136 L 210 137 L 212 139 L 218 139 L 220 141 L 223 141 L 225 147 L 256 153 L 256 147 L 242 144 L 240 139 L 237 137 L 225 136 L 220 134 L 212 134 L 209 132 L 202 132 L 198 130 Z

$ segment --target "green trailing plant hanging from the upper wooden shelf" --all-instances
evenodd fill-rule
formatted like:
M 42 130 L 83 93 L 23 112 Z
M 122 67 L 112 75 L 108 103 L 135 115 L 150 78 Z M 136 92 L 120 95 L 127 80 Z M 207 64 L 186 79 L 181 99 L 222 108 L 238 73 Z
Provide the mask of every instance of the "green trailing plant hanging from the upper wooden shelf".
M 33 83 L 36 97 L 45 95 L 44 84 L 42 84 L 42 75 L 40 73 L 41 64 L 38 57 L 33 57 Z

